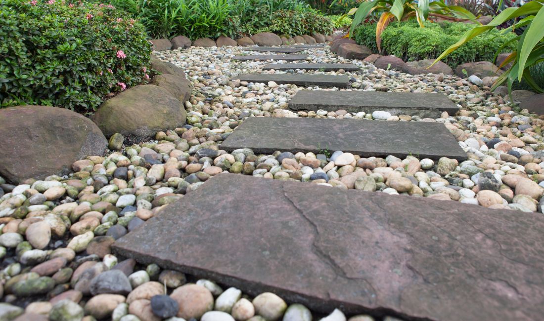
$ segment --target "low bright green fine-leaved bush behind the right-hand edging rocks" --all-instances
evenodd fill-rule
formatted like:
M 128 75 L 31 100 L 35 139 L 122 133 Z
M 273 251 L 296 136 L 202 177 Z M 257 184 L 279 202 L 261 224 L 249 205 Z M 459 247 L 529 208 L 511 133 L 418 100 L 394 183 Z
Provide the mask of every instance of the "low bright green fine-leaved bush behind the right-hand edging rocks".
M 395 55 L 405 61 L 436 59 L 444 50 L 459 40 L 460 35 L 474 26 L 467 23 L 443 22 L 427 23 L 420 28 L 417 22 L 390 23 L 381 34 L 382 54 Z M 501 30 L 480 35 L 465 46 L 442 59 L 455 68 L 459 64 L 473 61 L 493 61 L 503 44 L 514 38 L 513 33 L 504 34 Z M 355 30 L 354 40 L 378 52 L 376 47 L 376 24 L 363 24 Z M 506 45 L 503 52 L 511 52 L 517 43 Z

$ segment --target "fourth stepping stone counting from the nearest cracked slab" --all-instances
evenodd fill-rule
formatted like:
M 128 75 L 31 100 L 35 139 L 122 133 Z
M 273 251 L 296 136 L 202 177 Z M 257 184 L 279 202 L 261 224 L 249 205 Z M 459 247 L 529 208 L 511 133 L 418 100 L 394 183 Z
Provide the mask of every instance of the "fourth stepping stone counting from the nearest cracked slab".
M 349 77 L 343 75 L 325 74 L 274 74 L 274 73 L 246 73 L 231 79 L 239 79 L 251 83 L 293 84 L 298 86 L 347 87 Z

